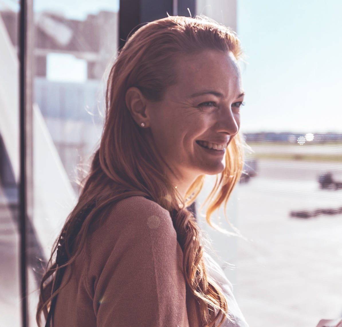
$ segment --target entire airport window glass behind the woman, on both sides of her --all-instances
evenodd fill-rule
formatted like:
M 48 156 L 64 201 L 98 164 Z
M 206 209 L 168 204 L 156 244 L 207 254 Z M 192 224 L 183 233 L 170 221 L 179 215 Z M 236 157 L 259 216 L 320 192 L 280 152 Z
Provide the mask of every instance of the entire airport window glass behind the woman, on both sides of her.
M 200 214 L 198 219 L 222 258 L 247 322 L 315 327 L 320 319 L 339 317 L 340 1 L 159 1 L 166 6 L 162 9 L 150 1 L 136 0 L 142 2 L 140 23 L 161 17 L 165 8 L 180 15 L 190 8 L 192 15 L 231 26 L 246 53 L 241 132 L 248 147 L 227 211 L 243 237 L 227 237 Z M 26 126 L 32 139 L 26 158 L 29 326 L 36 326 L 37 289 L 53 241 L 75 205 L 80 171 L 87 170 L 101 136 L 103 74 L 119 47 L 120 15 L 127 17 L 127 10 L 130 17 L 137 15 L 135 6 L 121 8 L 119 0 L 34 0 L 28 8 L 35 40 L 30 49 L 33 105 L 27 108 Z M 15 327 L 23 326 L 19 9 L 15 1 L 0 2 L 0 325 Z M 122 22 L 126 35 L 137 25 Z M 197 210 L 211 183 L 208 178 Z M 218 216 L 216 222 L 231 230 L 224 212 Z

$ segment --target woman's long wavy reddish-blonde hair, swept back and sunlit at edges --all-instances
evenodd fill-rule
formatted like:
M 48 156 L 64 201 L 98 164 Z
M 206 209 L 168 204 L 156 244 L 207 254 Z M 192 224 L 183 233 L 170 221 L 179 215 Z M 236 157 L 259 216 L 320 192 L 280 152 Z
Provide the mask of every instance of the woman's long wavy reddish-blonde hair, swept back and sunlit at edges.
M 177 240 L 183 250 L 183 271 L 186 284 L 199 304 L 203 326 L 221 325 L 229 319 L 229 308 L 220 287 L 206 273 L 199 228 L 186 209 L 189 202 L 181 198 L 162 169 L 162 159 L 153 146 L 148 129 L 134 122 L 125 103 L 125 93 L 137 87 L 150 100 L 161 100 L 167 87 L 176 83 L 173 67 L 181 55 L 203 50 L 232 52 L 241 56 L 240 42 L 229 28 L 202 17 L 169 16 L 138 29 L 126 42 L 111 66 L 106 91 L 105 125 L 98 150 L 74 210 L 62 229 L 47 272 L 40 287 L 37 322 L 47 317 L 53 294 L 56 271 L 71 265 L 81 253 L 90 224 L 110 207 L 130 196 L 147 197 L 170 212 Z M 242 143 L 239 135 L 229 143 L 225 169 L 209 199 L 207 220 L 229 195 L 242 171 Z M 203 184 L 199 176 L 187 196 L 195 199 Z M 181 205 L 180 205 L 181 203 Z M 90 213 L 79 222 L 81 213 L 94 204 Z M 66 262 L 56 264 L 58 245 L 63 244 Z

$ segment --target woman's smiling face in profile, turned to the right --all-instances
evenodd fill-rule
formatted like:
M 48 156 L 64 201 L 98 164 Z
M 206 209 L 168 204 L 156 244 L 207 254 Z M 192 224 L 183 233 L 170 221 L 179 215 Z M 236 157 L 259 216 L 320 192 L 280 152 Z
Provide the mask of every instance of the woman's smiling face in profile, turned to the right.
M 149 102 L 156 146 L 181 179 L 218 174 L 240 125 L 241 74 L 232 53 L 207 50 L 177 59 L 177 81 Z

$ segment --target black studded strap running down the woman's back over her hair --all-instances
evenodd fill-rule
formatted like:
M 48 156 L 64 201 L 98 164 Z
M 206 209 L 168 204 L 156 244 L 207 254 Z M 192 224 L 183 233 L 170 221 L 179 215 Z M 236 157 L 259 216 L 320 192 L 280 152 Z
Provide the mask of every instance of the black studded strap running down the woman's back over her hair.
M 95 203 L 90 204 L 89 206 L 86 207 L 86 209 L 82 210 L 79 214 L 79 216 L 76 219 L 75 222 L 75 226 L 74 226 L 74 230 L 73 230 L 73 235 L 71 235 L 69 237 L 70 243 L 69 245 L 69 250 L 70 252 L 73 250 L 73 243 L 75 241 L 75 238 L 78 234 L 78 232 L 80 231 L 81 227 L 82 227 L 82 223 L 84 222 L 84 220 L 87 218 L 87 216 L 90 214 L 90 212 L 94 209 L 95 207 Z M 53 284 L 53 289 L 52 289 L 52 294 L 58 289 L 60 288 L 61 284 L 62 284 L 62 279 L 63 279 L 63 275 L 65 272 L 65 268 L 66 267 L 62 267 L 60 268 L 60 266 L 66 264 L 68 262 L 69 258 L 68 255 L 66 253 L 65 250 L 65 233 L 62 233 L 60 239 L 59 239 L 59 243 L 57 246 L 57 253 L 56 253 L 56 264 L 57 264 L 57 270 L 56 270 L 56 276 L 55 276 L 55 281 Z M 56 306 L 56 301 L 57 301 L 57 295 L 55 294 L 52 299 L 51 299 L 51 304 L 50 304 L 50 310 L 46 319 L 46 323 L 45 323 L 45 327 L 50 327 L 50 324 L 52 322 L 52 314 L 55 310 L 55 306 Z

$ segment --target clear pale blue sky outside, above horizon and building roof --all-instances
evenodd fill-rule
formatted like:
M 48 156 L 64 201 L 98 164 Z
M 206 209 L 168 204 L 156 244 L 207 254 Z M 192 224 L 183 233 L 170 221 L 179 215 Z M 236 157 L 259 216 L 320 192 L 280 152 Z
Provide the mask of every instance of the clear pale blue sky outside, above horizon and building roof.
M 84 19 L 117 10 L 118 0 L 34 5 Z M 242 131 L 342 132 L 341 13 L 341 0 L 237 0 L 237 32 L 247 55 Z

